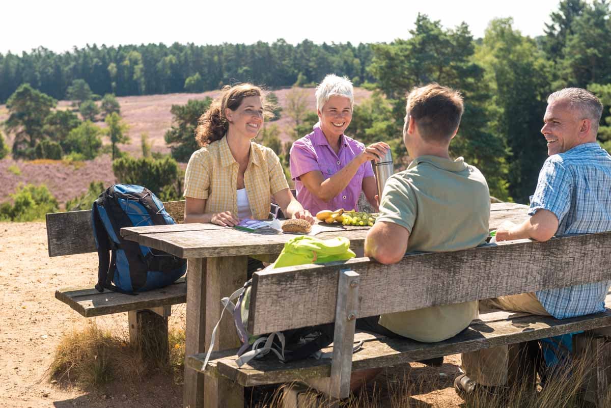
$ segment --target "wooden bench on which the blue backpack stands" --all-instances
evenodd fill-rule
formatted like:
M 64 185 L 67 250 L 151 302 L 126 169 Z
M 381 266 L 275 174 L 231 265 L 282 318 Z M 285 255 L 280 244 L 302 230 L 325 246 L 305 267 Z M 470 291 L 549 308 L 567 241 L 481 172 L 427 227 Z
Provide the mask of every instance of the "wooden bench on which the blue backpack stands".
M 178 224 L 185 219 L 185 202 L 164 203 Z M 46 214 L 49 257 L 97 252 L 91 227 L 91 210 Z M 94 279 L 97 280 L 97 271 Z M 139 293 L 137 296 L 109 290 L 98 292 L 92 286 L 57 289 L 55 297 L 86 318 L 128 313 L 130 341 L 151 355 L 167 357 L 167 317 L 172 305 L 186 302 L 186 282 Z

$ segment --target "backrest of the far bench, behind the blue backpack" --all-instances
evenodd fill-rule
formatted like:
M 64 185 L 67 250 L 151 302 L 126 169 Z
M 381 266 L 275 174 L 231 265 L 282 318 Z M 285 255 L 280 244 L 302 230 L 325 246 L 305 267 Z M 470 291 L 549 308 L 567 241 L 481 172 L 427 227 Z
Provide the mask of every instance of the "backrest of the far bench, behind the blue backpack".
M 165 202 L 163 205 L 178 224 L 185 219 L 185 200 Z M 46 214 L 46 238 L 49 257 L 96 252 L 91 210 Z

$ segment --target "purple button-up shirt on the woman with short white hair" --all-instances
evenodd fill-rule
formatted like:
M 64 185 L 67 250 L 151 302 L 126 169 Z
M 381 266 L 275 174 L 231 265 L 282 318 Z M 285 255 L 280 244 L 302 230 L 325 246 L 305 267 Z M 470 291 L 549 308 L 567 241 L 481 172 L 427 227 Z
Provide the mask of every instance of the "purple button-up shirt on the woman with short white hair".
M 297 200 L 312 214 L 323 209 L 335 210 L 338 208 L 359 210 L 358 201 L 360 191 L 365 177 L 373 177 L 371 162 L 367 161 L 360 165 L 359 170 L 343 189 L 330 202 L 324 202 L 312 192 L 305 188 L 301 182 L 301 175 L 312 171 L 323 173 L 325 179 L 340 171 L 348 162 L 359 155 L 365 149 L 365 145 L 343 134 L 342 144 L 337 155 L 324 137 L 319 126 L 314 126 L 314 131 L 293 143 L 290 151 L 291 178 L 295 180 L 297 188 Z

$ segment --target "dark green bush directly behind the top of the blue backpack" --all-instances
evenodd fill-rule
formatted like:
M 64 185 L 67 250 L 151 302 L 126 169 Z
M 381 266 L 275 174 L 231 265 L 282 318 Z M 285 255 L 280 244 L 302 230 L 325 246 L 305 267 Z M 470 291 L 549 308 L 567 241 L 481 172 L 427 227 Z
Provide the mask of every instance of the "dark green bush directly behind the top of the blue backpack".
M 177 200 L 181 194 L 181 172 L 177 162 L 163 159 L 120 158 L 112 162 L 112 172 L 123 184 L 138 184 L 154 192 L 162 200 Z

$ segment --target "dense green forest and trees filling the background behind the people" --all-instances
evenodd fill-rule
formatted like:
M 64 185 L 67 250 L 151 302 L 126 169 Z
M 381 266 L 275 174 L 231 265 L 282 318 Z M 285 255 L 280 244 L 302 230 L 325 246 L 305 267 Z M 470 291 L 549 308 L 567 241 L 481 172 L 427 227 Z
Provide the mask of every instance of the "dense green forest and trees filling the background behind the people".
M 277 40 L 271 45 L 92 45 L 63 54 L 38 48 L 21 56 L 0 54 L 0 101 L 6 100 L 9 108 L 5 129 L 18 140 L 17 145 L 13 142 L 13 157 L 51 158 L 62 152 L 88 157 L 97 154 L 87 149 L 91 141 L 100 148 L 98 131 L 90 122 L 54 111 L 54 98 L 73 100 L 86 118 L 99 114 L 90 100 L 104 95 L 106 122 L 117 123 L 118 129 L 111 138 L 120 141 L 125 128 L 117 122 L 118 115 L 112 116 L 119 109 L 112 94 L 196 92 L 244 81 L 271 89 L 312 86 L 327 73 L 336 73 L 375 90 L 370 100 L 355 107 L 348 134 L 365 143 L 390 142 L 400 162 L 405 156 L 404 95 L 414 86 L 436 81 L 460 90 L 465 98 L 452 154 L 480 167 L 493 195 L 527 202 L 546 158 L 540 128 L 547 95 L 566 86 L 587 87 L 606 107 L 611 105 L 610 16 L 606 0 L 562 0 L 551 23 L 545 24 L 545 34 L 537 38 L 513 29 L 511 18 L 492 20 L 484 37 L 474 38 L 466 23 L 443 27 L 418 15 L 404 38 L 358 46 Z M 20 110 L 19 101 L 24 100 L 29 102 L 21 103 Z M 34 100 L 41 109 L 31 109 Z M 175 159 L 185 161 L 195 148 L 192 128 L 208 103 L 172 107 L 177 126 L 166 141 Z M 314 112 L 301 112 L 291 135 L 303 136 L 315 121 Z M 607 108 L 601 125 L 599 139 L 611 150 Z M 287 147 L 274 139 L 273 126 L 263 140 L 285 155 Z M 120 156 L 114 147 L 112 154 Z

